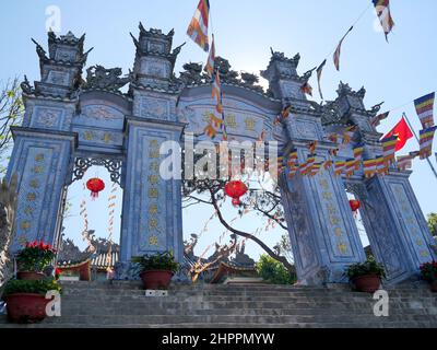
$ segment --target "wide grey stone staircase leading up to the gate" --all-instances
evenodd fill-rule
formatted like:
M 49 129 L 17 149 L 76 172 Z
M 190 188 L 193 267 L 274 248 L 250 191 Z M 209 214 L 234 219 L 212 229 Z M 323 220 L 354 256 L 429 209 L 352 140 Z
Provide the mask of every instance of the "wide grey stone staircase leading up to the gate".
M 437 327 L 437 295 L 427 284 L 388 287 L 389 317 L 371 294 L 347 285 L 174 285 L 145 296 L 138 282 L 62 282 L 61 317 L 2 327 Z

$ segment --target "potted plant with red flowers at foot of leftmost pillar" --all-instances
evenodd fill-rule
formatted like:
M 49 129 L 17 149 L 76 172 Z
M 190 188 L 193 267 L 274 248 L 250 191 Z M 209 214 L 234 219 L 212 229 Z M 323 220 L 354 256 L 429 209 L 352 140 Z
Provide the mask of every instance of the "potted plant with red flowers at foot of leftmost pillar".
M 19 272 L 16 275 L 20 280 L 44 279 L 46 275 L 43 272 L 56 257 L 56 249 L 49 244 L 42 242 L 26 242 L 24 248 L 16 255 Z

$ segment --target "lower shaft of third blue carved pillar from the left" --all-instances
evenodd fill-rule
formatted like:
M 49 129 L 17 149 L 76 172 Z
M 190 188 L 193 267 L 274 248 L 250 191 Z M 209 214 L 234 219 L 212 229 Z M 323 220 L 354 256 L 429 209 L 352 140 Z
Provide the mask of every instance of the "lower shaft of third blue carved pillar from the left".
M 308 155 L 307 148 L 295 144 L 299 161 Z M 328 159 L 319 151 L 318 159 Z M 282 198 L 292 242 L 296 272 L 303 284 L 347 282 L 346 266 L 363 261 L 359 241 L 344 185 L 332 171 L 318 175 L 282 178 Z

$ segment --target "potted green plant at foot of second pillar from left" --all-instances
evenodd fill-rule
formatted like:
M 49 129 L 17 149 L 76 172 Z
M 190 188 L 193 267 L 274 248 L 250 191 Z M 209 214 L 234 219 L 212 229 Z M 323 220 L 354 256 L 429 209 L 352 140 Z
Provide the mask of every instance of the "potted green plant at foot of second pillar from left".
M 179 264 L 169 252 L 156 255 L 134 257 L 132 262 L 139 265 L 140 278 L 144 289 L 167 289 L 173 275 L 178 270 Z

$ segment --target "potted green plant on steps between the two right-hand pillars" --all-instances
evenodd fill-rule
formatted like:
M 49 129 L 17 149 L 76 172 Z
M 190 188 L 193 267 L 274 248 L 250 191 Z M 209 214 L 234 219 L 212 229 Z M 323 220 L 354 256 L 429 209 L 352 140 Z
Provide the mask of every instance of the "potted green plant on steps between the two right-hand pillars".
M 375 293 L 381 284 L 381 279 L 386 278 L 386 270 L 373 256 L 369 256 L 365 262 L 349 266 L 346 275 L 357 291 Z

